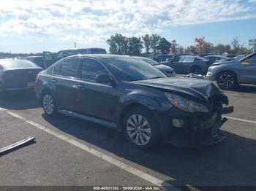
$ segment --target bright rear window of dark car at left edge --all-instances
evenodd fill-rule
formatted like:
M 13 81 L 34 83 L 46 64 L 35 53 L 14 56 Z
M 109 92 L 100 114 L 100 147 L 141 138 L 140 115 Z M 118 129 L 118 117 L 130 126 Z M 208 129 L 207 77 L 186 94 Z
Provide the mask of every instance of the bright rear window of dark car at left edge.
M 39 66 L 32 63 L 31 61 L 18 59 L 3 59 L 0 61 L 0 65 L 4 69 L 39 69 Z

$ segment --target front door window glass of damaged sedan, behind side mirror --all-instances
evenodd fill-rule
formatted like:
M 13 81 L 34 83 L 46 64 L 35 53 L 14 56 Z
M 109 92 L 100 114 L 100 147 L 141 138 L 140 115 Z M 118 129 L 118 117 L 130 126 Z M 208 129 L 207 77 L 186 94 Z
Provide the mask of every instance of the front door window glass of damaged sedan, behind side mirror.
M 92 59 L 83 59 L 81 78 L 95 80 L 97 74 L 108 74 L 108 72 L 99 62 Z

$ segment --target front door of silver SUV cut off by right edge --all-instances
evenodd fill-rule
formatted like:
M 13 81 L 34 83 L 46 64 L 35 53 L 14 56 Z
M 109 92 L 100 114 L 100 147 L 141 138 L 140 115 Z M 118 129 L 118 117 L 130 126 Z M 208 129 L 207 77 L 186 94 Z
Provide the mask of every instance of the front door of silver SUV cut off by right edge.
M 256 84 L 256 54 L 243 59 L 240 63 L 238 71 L 240 74 L 240 82 Z

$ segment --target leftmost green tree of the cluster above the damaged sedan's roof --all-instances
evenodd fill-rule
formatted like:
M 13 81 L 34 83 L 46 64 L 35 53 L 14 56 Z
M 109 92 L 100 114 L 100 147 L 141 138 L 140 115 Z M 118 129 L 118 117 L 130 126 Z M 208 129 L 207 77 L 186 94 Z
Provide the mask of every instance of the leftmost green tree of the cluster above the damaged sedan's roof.
M 128 53 L 127 37 L 121 34 L 111 35 L 110 39 L 107 39 L 107 43 L 110 46 L 110 54 L 125 55 Z

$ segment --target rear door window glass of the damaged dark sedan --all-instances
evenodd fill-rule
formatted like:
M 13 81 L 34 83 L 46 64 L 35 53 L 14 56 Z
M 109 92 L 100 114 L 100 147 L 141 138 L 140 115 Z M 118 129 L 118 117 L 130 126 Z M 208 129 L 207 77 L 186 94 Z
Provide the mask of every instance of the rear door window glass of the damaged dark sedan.
M 61 63 L 60 75 L 65 77 L 76 77 L 79 58 L 68 58 Z

